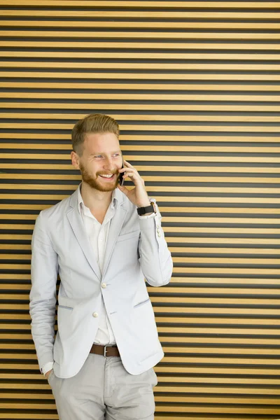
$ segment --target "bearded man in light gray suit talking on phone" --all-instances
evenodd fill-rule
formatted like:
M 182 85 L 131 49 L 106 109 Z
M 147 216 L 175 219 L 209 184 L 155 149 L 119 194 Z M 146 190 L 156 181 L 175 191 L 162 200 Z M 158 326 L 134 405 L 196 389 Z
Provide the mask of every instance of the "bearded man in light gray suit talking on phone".
M 34 228 L 31 331 L 60 420 L 154 418 L 153 366 L 163 352 L 144 277 L 167 284 L 172 258 L 155 200 L 123 161 L 118 134 L 103 114 L 76 123 L 71 159 L 82 183 L 41 211 Z

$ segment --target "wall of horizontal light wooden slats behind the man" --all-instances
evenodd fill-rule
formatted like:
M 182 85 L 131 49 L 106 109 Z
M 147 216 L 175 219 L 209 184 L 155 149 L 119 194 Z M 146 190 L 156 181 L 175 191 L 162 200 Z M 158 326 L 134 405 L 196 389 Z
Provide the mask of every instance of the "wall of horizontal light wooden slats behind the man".
M 0 0 L 1 419 L 57 419 L 30 334 L 38 212 L 71 127 L 120 122 L 162 211 L 156 419 L 280 418 L 279 1 Z

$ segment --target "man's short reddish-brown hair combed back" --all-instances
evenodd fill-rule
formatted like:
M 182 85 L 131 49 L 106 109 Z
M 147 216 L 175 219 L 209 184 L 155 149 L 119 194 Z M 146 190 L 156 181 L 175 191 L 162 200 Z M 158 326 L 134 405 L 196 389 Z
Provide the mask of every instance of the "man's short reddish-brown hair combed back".
M 73 151 L 79 156 L 83 155 L 83 142 L 87 133 L 113 133 L 118 137 L 120 130 L 116 120 L 104 114 L 90 114 L 79 120 L 71 134 Z

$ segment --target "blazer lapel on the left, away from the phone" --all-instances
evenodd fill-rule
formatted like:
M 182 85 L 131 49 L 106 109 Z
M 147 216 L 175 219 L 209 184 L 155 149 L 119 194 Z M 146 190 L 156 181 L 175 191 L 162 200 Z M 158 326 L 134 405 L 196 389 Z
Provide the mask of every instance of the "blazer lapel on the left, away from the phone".
M 83 220 L 78 212 L 78 206 L 74 205 L 75 202 L 77 202 L 78 200 L 77 195 L 78 193 L 75 192 L 71 196 L 70 206 L 72 207 L 72 209 L 66 214 L 66 216 L 69 220 L 71 228 L 73 229 L 74 235 L 76 236 L 76 239 L 78 240 L 78 243 L 80 244 L 80 248 L 82 248 L 83 253 L 85 254 L 85 258 L 89 262 L 94 273 L 101 280 L 102 275 L 99 269 L 99 265 L 97 264 L 97 260 L 95 260 L 94 258 L 90 241 L 87 237 L 87 233 L 85 232 Z

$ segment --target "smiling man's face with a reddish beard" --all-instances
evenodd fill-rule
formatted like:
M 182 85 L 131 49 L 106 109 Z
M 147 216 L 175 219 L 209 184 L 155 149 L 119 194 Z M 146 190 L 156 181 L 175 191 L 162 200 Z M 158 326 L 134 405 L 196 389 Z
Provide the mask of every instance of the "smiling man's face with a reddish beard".
M 113 133 L 85 135 L 83 155 L 79 157 L 83 182 L 95 190 L 113 191 L 118 186 L 118 169 L 123 158 L 118 137 Z

